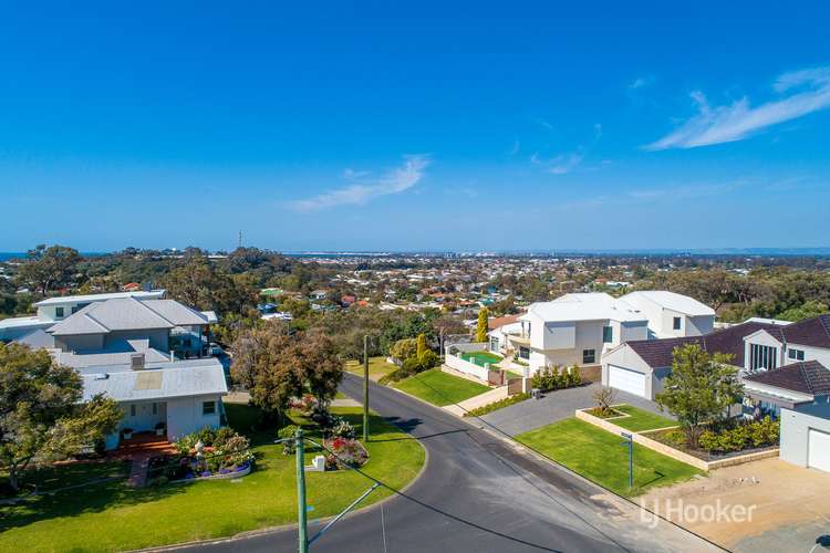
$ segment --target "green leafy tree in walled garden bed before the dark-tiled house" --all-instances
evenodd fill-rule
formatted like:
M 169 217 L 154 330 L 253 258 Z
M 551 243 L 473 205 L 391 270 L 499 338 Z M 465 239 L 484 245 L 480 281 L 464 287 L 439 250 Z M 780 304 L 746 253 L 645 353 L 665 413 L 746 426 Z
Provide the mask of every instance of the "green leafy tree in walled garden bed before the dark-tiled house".
M 704 425 L 725 417 L 729 406 L 740 401 L 744 386 L 730 355 L 686 344 L 675 347 L 672 357 L 672 374 L 655 400 L 677 418 L 688 445 L 697 447 Z

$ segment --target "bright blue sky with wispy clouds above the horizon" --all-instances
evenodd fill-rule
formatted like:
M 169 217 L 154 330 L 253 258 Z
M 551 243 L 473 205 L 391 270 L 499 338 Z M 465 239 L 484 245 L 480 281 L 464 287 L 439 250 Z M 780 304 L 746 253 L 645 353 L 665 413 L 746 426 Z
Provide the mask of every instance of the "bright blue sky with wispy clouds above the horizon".
M 7 6 L 0 251 L 830 246 L 830 4 L 572 3 Z

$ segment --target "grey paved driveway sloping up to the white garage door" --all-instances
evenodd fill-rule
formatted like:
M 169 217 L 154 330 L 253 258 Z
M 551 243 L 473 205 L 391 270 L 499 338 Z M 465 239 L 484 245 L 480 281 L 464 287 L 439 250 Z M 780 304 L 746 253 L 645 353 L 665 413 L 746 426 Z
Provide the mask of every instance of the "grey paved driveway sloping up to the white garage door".
M 527 432 L 557 420 L 572 417 L 573 411 L 585 407 L 593 407 L 596 401 L 593 394 L 600 388 L 600 383 L 591 383 L 577 388 L 559 389 L 548 392 L 541 399 L 528 399 L 510 407 L 485 415 L 481 418 L 488 425 L 510 435 Z M 660 408 L 653 401 L 642 397 L 618 392 L 618 404 L 629 404 L 652 413 L 660 413 Z M 667 413 L 661 415 L 673 418 Z

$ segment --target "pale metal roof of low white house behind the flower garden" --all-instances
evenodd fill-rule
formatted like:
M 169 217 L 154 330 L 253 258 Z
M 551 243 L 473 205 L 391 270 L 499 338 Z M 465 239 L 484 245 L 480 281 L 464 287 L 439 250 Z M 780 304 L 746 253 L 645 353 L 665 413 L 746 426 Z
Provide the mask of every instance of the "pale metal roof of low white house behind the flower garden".
M 205 366 L 83 374 L 83 398 L 104 394 L 116 401 L 135 401 L 227 394 L 221 364 L 212 361 Z

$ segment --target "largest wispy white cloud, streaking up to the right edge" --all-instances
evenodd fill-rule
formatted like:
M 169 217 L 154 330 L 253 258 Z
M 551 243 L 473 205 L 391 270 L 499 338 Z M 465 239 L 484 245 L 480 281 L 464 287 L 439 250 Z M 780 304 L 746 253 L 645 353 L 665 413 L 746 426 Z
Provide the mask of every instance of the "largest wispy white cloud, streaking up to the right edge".
M 713 107 L 701 91 L 694 91 L 691 96 L 697 115 L 644 148 L 695 148 L 741 140 L 766 127 L 830 107 L 830 67 L 785 73 L 776 80 L 774 90 L 789 95 L 758 107 L 750 107 L 746 97 Z

